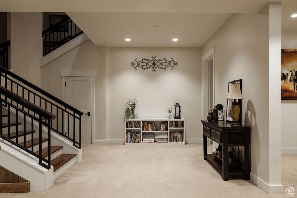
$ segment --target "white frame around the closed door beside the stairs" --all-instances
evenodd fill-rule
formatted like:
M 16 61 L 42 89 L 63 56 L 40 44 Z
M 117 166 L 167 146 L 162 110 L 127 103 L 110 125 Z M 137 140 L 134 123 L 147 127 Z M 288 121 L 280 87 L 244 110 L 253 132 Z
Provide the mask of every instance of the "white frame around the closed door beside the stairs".
M 90 76 L 91 77 L 91 143 L 95 142 L 95 71 L 61 71 L 62 77 L 62 100 L 66 102 L 66 77 L 69 76 Z

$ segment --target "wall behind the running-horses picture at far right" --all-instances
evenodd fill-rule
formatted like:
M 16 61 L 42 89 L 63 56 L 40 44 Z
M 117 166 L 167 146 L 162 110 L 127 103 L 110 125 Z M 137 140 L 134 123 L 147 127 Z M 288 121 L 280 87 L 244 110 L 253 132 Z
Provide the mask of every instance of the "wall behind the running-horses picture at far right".
M 296 49 L 296 32 L 282 32 L 282 49 Z M 282 153 L 297 154 L 295 118 L 290 112 L 297 111 L 296 100 L 282 100 Z

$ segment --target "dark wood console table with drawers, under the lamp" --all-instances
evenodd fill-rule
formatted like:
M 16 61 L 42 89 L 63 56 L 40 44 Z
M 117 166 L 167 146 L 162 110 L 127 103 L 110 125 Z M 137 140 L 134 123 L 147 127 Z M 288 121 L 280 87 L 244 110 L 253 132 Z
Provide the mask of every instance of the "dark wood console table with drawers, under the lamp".
M 221 175 L 223 180 L 229 180 L 229 176 L 243 177 L 250 180 L 250 127 L 231 126 L 224 121 L 201 121 L 203 124 L 203 156 L 209 164 Z M 207 138 L 222 145 L 222 160 L 217 159 L 214 154 L 207 153 Z M 244 146 L 244 169 L 240 166 L 229 167 L 228 146 Z

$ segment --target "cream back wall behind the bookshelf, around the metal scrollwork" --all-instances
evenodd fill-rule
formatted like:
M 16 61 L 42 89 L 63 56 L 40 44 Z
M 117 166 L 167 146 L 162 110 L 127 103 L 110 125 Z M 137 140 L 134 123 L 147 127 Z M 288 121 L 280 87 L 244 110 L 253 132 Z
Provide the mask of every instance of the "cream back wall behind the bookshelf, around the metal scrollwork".
M 173 58 L 173 70 L 143 71 L 131 62 L 143 57 Z M 124 141 L 123 115 L 125 103 L 137 99 L 136 118 L 167 118 L 167 107 L 181 105 L 186 119 L 187 142 L 198 142 L 201 124 L 201 56 L 200 48 L 107 48 L 106 132 L 107 139 Z

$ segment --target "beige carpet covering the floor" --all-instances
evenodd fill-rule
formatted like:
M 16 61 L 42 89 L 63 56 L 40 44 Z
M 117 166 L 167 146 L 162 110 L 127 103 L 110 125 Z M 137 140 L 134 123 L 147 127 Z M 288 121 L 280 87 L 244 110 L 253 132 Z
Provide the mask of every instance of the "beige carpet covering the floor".
M 202 144 L 83 145 L 74 164 L 45 192 L 0 197 L 287 197 L 268 195 L 251 181 L 223 181 L 203 160 Z M 297 196 L 297 156 L 282 156 L 282 183 Z

